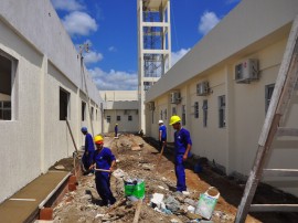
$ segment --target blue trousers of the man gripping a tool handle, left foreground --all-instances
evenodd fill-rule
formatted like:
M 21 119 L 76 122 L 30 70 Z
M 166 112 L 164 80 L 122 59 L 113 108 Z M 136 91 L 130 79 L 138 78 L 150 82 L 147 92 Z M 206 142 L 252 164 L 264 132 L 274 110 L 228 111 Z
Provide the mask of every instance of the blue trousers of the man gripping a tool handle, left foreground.
M 96 190 L 99 197 L 103 200 L 103 204 L 114 204 L 116 199 L 114 198 L 110 191 L 109 174 L 106 172 L 96 172 L 95 173 L 95 184 Z

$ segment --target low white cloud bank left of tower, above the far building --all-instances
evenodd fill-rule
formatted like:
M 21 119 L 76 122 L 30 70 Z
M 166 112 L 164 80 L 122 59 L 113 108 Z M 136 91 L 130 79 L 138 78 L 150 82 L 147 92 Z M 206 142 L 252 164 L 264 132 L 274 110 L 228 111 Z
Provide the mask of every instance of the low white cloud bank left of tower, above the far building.
M 88 72 L 99 91 L 136 91 L 138 87 L 138 75 L 136 73 L 114 70 L 104 72 L 98 67 L 88 70 Z

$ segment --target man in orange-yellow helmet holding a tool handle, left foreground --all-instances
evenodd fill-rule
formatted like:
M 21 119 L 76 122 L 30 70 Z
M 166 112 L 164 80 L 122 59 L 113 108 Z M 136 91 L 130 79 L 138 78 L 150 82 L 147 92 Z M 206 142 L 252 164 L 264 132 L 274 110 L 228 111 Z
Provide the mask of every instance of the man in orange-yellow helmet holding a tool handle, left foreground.
M 103 205 L 109 206 L 116 202 L 116 199 L 110 191 L 109 182 L 110 173 L 114 171 L 116 166 L 116 158 L 109 148 L 104 147 L 104 138 L 102 136 L 98 135 L 94 137 L 94 142 L 96 151 L 93 158 L 94 163 L 91 169 L 95 169 L 96 190 L 103 200 Z

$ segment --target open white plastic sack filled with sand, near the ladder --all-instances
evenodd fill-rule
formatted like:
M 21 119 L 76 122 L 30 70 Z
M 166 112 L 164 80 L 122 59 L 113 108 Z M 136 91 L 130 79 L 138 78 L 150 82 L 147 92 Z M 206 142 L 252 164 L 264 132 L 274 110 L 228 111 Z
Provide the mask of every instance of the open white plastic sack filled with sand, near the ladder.
M 200 199 L 198 201 L 196 209 L 194 211 L 195 214 L 200 214 L 201 216 L 210 220 L 214 208 L 220 198 L 220 192 L 217 191 L 216 195 L 210 195 L 209 191 L 214 189 L 214 187 L 210 187 L 204 193 L 200 194 Z

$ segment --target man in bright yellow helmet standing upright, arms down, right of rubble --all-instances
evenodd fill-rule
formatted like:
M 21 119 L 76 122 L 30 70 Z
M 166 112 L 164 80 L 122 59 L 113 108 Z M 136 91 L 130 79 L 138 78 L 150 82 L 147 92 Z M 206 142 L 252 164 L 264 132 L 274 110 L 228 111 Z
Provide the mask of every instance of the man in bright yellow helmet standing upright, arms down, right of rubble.
M 184 161 L 188 159 L 192 146 L 190 132 L 182 128 L 181 118 L 177 115 L 170 119 L 174 132 L 174 170 L 177 178 L 177 191 L 187 191 Z

